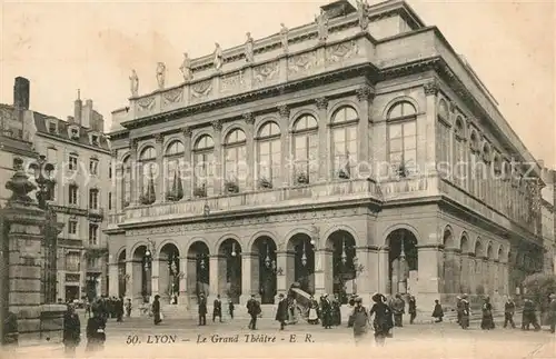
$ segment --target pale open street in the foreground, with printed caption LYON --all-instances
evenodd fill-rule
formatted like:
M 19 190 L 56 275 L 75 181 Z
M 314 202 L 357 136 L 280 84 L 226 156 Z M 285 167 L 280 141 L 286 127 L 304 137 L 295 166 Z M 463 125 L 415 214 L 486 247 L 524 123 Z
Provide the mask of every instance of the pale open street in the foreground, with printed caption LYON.
M 87 319 L 81 318 L 85 338 Z M 150 318 L 109 319 L 102 358 L 341 358 L 347 352 L 374 353 L 384 358 L 556 358 L 555 336 L 518 329 L 483 331 L 474 322 L 468 330 L 455 323 L 424 323 L 396 328 L 384 348 L 374 345 L 373 333 L 358 347 L 351 329 L 341 326 L 299 323 L 278 330 L 270 319 L 259 320 L 256 331 L 247 320 L 207 321 L 198 327 L 191 320 L 167 319 L 153 326 Z M 82 356 L 85 339 L 78 349 Z M 27 352 L 26 358 L 61 357 L 61 350 Z

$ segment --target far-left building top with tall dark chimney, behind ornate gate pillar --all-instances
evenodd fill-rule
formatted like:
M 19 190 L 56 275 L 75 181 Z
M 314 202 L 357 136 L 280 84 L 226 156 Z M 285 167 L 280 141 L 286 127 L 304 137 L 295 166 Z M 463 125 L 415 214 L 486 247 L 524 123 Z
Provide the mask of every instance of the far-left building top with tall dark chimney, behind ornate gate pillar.
M 13 104 L 0 103 L 0 206 L 3 207 L 11 191 L 6 182 L 14 173 L 13 161 L 37 160 L 39 154 L 33 150 L 29 139 L 29 127 L 32 112 L 29 111 L 29 80 L 17 78 L 13 84 Z M 34 196 L 34 195 L 31 195 Z

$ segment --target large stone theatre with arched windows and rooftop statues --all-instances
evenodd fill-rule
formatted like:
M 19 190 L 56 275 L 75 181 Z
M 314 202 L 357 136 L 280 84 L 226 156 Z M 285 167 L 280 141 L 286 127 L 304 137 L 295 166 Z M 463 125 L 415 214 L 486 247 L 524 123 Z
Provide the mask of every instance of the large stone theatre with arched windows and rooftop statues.
M 403 1 L 321 9 L 112 112 L 111 295 L 427 306 L 542 270 L 540 168 L 469 64 Z

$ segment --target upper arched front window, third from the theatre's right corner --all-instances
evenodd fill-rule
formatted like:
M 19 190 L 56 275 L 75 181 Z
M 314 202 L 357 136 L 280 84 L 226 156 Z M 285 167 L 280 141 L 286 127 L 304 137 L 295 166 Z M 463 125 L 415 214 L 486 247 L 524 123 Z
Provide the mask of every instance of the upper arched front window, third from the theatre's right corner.
M 318 124 L 310 114 L 294 124 L 295 183 L 306 185 L 318 178 Z

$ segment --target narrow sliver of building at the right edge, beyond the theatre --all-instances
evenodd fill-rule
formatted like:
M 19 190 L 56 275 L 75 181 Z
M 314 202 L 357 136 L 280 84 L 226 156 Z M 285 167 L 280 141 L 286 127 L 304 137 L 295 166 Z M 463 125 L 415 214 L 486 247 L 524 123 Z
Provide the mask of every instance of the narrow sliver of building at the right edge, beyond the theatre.
M 556 236 L 555 236 L 555 186 L 556 171 L 545 169 L 544 181 L 547 183 L 543 188 L 543 241 L 545 245 L 544 270 L 545 273 L 556 275 Z

